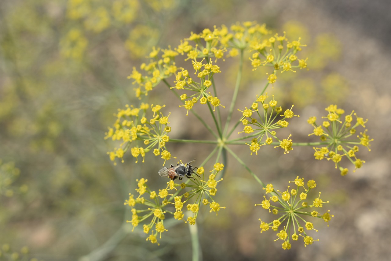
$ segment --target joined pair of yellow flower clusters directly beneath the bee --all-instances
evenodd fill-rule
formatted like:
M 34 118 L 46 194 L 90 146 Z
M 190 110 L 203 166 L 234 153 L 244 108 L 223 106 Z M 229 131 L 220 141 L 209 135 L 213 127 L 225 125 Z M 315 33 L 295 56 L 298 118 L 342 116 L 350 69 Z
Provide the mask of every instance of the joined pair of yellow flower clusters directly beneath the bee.
M 209 212 L 213 211 L 217 214 L 221 208 L 225 208 L 220 207 L 219 203 L 213 200 L 213 196 L 217 192 L 217 183 L 222 180 L 215 180 L 215 177 L 223 167 L 224 165 L 216 163 L 207 180 L 204 179 L 204 168 L 199 167 L 197 173 L 193 173 L 193 177 L 188 179 L 186 183 L 177 184 L 174 180 L 170 180 L 167 182 L 167 187 L 159 189 L 158 192 L 147 186 L 147 179 L 137 179 L 136 192 L 138 196 L 129 193 L 129 199 L 124 203 L 132 208 L 132 219 L 127 222 L 133 225 L 134 230 L 140 222 L 151 219 L 149 223 L 143 225 L 143 231 L 145 234 L 149 234 L 147 241 L 158 243 L 158 234 L 161 238 L 161 233 L 167 231 L 164 227 L 164 220 L 168 214 L 172 215 L 174 219 L 184 220 L 190 225 L 195 224 L 202 205 L 209 205 Z M 190 191 L 185 192 L 185 188 L 190 188 Z M 149 197 L 143 195 L 149 195 Z M 187 219 L 184 218 L 183 206 L 186 206 L 188 210 Z M 174 209 L 175 211 L 173 211 Z

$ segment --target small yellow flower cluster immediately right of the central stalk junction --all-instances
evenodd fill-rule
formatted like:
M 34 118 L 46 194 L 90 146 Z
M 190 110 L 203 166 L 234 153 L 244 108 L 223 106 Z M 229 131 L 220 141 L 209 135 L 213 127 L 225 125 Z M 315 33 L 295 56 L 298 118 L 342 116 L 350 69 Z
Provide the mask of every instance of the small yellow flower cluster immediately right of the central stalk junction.
M 265 95 L 257 95 L 256 101 L 251 105 L 251 109 L 248 109 L 247 107 L 245 107 L 243 111 L 238 109 L 238 111 L 242 112 L 243 114 L 243 117 L 240 119 L 240 121 L 242 121 L 244 125 L 243 131 L 238 133 L 244 132 L 246 134 L 250 134 L 249 136 L 246 136 L 246 138 L 256 136 L 256 138 L 251 140 L 251 144 L 246 143 L 250 146 L 251 155 L 253 152 L 258 154 L 260 146 L 265 144 L 270 145 L 273 143 L 273 138 L 280 142 L 280 145 L 276 147 L 281 147 L 284 149 L 284 154 L 289 153 L 289 150 L 292 150 L 292 140 L 289 139 L 291 135 L 289 135 L 287 139 L 280 140 L 277 138 L 277 133 L 275 130 L 288 127 L 288 119 L 292 118 L 293 116 L 300 116 L 293 113 L 292 108 L 294 105 L 292 105 L 291 109 L 286 109 L 283 114 L 280 114 L 283 109 L 281 106 L 277 107 L 277 101 L 274 100 L 274 95 L 272 95 L 272 99 L 269 102 L 265 102 L 268 97 L 269 96 L 267 96 L 267 93 Z M 260 105 L 259 102 L 262 103 L 262 109 L 258 109 L 258 106 Z M 260 110 L 263 111 L 263 114 L 259 112 Z M 259 120 L 253 117 L 254 113 L 258 116 Z M 278 115 L 283 118 L 277 121 L 276 119 Z M 264 137 L 265 140 L 262 143 Z

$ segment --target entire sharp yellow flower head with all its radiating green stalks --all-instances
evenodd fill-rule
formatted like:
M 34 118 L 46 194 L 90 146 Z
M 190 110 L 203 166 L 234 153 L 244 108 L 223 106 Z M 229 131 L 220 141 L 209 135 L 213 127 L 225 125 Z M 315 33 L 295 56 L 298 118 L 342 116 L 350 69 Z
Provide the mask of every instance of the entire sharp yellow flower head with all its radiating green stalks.
M 300 37 L 297 38 L 298 40 L 289 42 L 285 32 L 283 35 L 274 34 L 274 36 L 267 36 L 268 34 L 271 34 L 271 32 L 265 29 L 265 25 L 259 25 L 255 22 L 237 23 L 232 25 L 230 29 L 222 25 L 221 27 L 215 26 L 213 30 L 204 29 L 201 33 L 192 32 L 188 38 L 181 40 L 177 47 L 169 46 L 167 49 L 154 47 L 149 54 L 149 63 L 143 63 L 140 69 L 134 67 L 128 78 L 133 80 L 136 97 L 140 99 L 142 95 L 147 96 L 158 84 L 164 83 L 181 100 L 179 107 L 187 110 L 186 115 L 197 103 L 207 105 L 217 132 L 214 132 L 202 117 L 196 114 L 197 118 L 217 140 L 207 141 L 207 143 L 210 142 L 217 145 L 207 159 L 210 159 L 215 152 L 219 151 L 217 152 L 217 160 L 219 160 L 221 152 L 224 150 L 246 167 L 246 164 L 228 145 L 239 143 L 243 145 L 241 140 L 248 139 L 251 140 L 251 143 L 245 144 L 249 146 L 251 155 L 253 153 L 257 155 L 258 150 L 263 145 L 273 145 L 274 148 L 280 147 L 283 149 L 283 153 L 287 154 L 292 150 L 292 145 L 294 145 L 291 134 L 287 137 L 280 137 L 276 131 L 277 129 L 288 127 L 291 122 L 290 119 L 294 116 L 300 117 L 293 112 L 294 105 L 290 109 L 289 107 L 288 109 L 283 109 L 281 106 L 277 106 L 278 101 L 274 100 L 274 95 L 269 97 L 265 91 L 270 84 L 276 82 L 278 71 L 296 72 L 294 68 L 307 68 L 307 58 L 299 59 L 297 56 L 301 48 L 306 45 L 301 44 Z M 239 94 L 241 73 L 239 72 L 237 76 L 237 84 L 235 85 L 225 126 L 223 126 L 219 109 L 217 109 L 216 114 L 213 113 L 216 107 L 224 107 L 217 97 L 214 76 L 221 72 L 221 62 L 224 62 L 228 57 L 234 57 L 239 54 L 239 67 L 242 70 L 242 61 L 247 53 L 251 53 L 249 60 L 253 66 L 253 71 L 260 65 L 263 65 L 272 67 L 273 73 L 267 74 L 267 83 L 265 82 L 263 91 L 258 92 L 251 106 L 238 109 L 242 116 L 237 117 L 236 125 L 229 130 L 233 108 L 237 94 Z M 177 66 L 177 56 L 185 56 L 184 60 L 189 67 Z M 167 81 L 170 76 L 175 78 L 173 83 Z M 223 104 L 225 105 L 225 102 Z M 169 160 L 171 154 L 166 149 L 165 143 L 169 141 L 167 133 L 170 131 L 170 127 L 167 124 L 169 123 L 168 117 L 170 114 L 163 116 L 162 112 L 160 112 L 162 107 L 164 105 L 151 105 L 153 115 L 149 119 L 146 118 L 149 105 L 144 103 L 139 108 L 127 106 L 125 110 L 118 110 L 118 114 L 116 114 L 117 121 L 114 124 L 114 128 L 109 129 L 106 138 L 120 140 L 122 143 L 120 144 L 120 149 L 109 152 L 110 158 L 113 160 L 116 158 L 122 159 L 124 152 L 130 148 L 137 162 L 138 156 L 144 157 L 146 152 L 154 148 L 156 156 L 161 156 L 161 158 L 165 159 L 165 162 Z M 370 139 L 368 134 L 366 134 L 367 130 L 360 132 L 359 136 L 355 134 L 359 125 L 365 128 L 364 124 L 367 120 L 358 117 L 354 111 L 344 116 L 344 122 L 341 120 L 344 111 L 338 109 L 336 105 L 330 105 L 326 108 L 326 111 L 328 114 L 322 117 L 324 120 L 321 125 L 316 123 L 316 117 L 311 117 L 308 120 L 308 123 L 314 127 L 314 132 L 308 136 L 319 136 L 321 141 L 302 142 L 295 145 L 310 145 L 311 147 L 315 144 L 320 145 L 319 147 L 314 147 L 315 158 L 319 160 L 326 158 L 334 161 L 335 167 L 339 167 L 341 174 L 344 175 L 348 172 L 348 169 L 340 166 L 343 156 L 350 159 L 355 165 L 355 169 L 360 168 L 365 161 L 356 157 L 359 145 L 370 150 L 369 143 L 373 139 Z M 353 120 L 354 116 L 355 121 Z M 245 134 L 240 138 L 230 139 L 230 135 L 241 124 L 243 124 L 243 130 L 239 131 L 238 134 Z M 146 147 L 139 147 L 138 145 L 132 147 L 131 143 L 137 140 L 142 140 Z M 172 141 L 186 142 L 187 140 L 172 139 Z M 203 142 L 197 140 L 190 141 Z M 321 147 L 322 145 L 324 147 Z M 219 148 L 220 150 L 218 150 Z M 171 165 L 171 168 L 175 171 L 176 167 Z M 197 169 L 196 172 L 195 169 Z M 175 183 L 173 180 L 175 179 L 174 176 L 176 176 L 175 173 L 169 172 L 171 175 L 163 175 L 163 172 L 159 172 L 161 176 L 168 176 L 170 180 L 167 182 L 167 187 L 158 191 L 151 190 L 146 185 L 147 179 L 137 180 L 138 188 L 136 192 L 138 195 L 129 194 L 129 199 L 125 202 L 125 205 L 129 205 L 132 208 L 132 219 L 127 222 L 133 225 L 133 230 L 139 223 L 145 223 L 143 224 L 143 231 L 149 235 L 147 241 L 157 243 L 157 237 L 161 238 L 161 234 L 167 231 L 164 222 L 168 215 L 172 215 L 172 219 L 183 220 L 185 223 L 194 225 L 202 206 L 209 206 L 209 212 L 213 211 L 218 214 L 219 210 L 225 207 L 221 207 L 213 198 L 217 192 L 217 183 L 222 180 L 216 179 L 217 174 L 223 169 L 224 164 L 216 163 L 213 169 L 210 170 L 210 174 L 205 177 L 203 167 L 194 168 L 192 177 L 181 184 Z M 251 170 L 249 172 L 265 187 L 266 191 L 262 203 L 256 205 L 261 205 L 262 208 L 267 209 L 274 215 L 280 214 L 278 218 L 270 223 L 259 219 L 261 222 L 261 233 L 270 228 L 276 232 L 279 231 L 277 234 L 278 238 L 274 241 L 278 239 L 283 240 L 283 249 L 290 249 L 291 241 L 297 241 L 299 238 L 303 238 L 305 246 L 311 245 L 314 241 L 319 241 L 319 239 L 314 239 L 312 236 L 307 235 L 308 230 L 318 231 L 312 221 L 310 221 L 310 217 L 323 219 L 328 226 L 328 222 L 334 215 L 329 214 L 330 210 L 319 214 L 319 208 L 323 207 L 323 203 L 328 203 L 328 201 L 321 199 L 320 192 L 317 195 L 310 193 L 310 191 L 316 188 L 314 180 L 309 180 L 305 185 L 304 179 L 297 176 L 294 181 L 289 181 L 289 183 L 295 184 L 294 188 L 290 188 L 291 186 L 288 185 L 287 190 L 280 191 L 274 190 L 272 184 L 265 186 L 255 173 L 251 172 Z M 270 196 L 267 197 L 267 194 Z M 143 195 L 149 196 L 145 197 Z M 310 198 L 310 202 L 307 201 L 307 198 Z

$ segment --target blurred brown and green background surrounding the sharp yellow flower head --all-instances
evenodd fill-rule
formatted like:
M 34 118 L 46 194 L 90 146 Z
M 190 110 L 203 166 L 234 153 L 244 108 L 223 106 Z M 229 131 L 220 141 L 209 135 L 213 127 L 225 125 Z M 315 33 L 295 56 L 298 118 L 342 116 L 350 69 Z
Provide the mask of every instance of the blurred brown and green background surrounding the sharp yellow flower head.
M 282 250 L 273 242 L 274 232 L 260 234 L 258 218 L 267 212 L 254 204 L 262 201 L 262 188 L 230 159 L 217 194 L 227 208 L 219 216 L 206 211 L 197 219 L 203 260 L 387 260 L 391 6 L 387 0 L 314 3 L 2 0 L 0 260 L 189 260 L 188 225 L 169 227 L 160 246 L 123 229 L 131 219 L 123 203 L 134 192 L 135 179 L 148 178 L 150 186 L 160 188 L 162 162 L 147 155 L 147 164 L 136 164 L 129 153 L 114 166 L 106 154 L 114 144 L 103 139 L 104 132 L 118 108 L 138 103 L 127 76 L 132 67 L 147 62 L 152 46 L 175 47 L 191 31 L 253 20 L 280 34 L 287 31 L 289 39 L 301 36 L 308 46 L 301 56 L 308 57 L 310 70 L 282 74 L 273 89 L 283 107 L 294 103 L 301 116 L 290 124 L 294 141 L 308 140 L 312 127 L 306 120 L 325 115 L 330 104 L 368 118 L 367 133 L 375 140 L 371 152 L 360 151 L 364 166 L 344 177 L 332 163 L 316 161 L 311 147 L 294 147 L 287 155 L 262 148 L 251 158 L 248 147 L 233 147 L 248 154 L 243 158 L 249 167 L 274 187 L 283 189 L 296 176 L 315 179 L 335 217 L 330 227 L 316 224 L 319 232 L 312 236 L 319 242 L 308 247 L 294 242 L 291 250 Z M 230 102 L 235 70 L 235 60 L 222 66 L 223 105 Z M 236 108 L 251 105 L 265 80 L 261 68 L 251 71 L 248 61 Z M 165 90 L 152 91 L 149 102 L 171 103 L 174 95 Z M 173 108 L 175 138 L 210 138 L 201 135 L 202 128 L 178 104 L 167 107 Z M 201 160 L 210 149 L 168 146 L 189 160 Z

